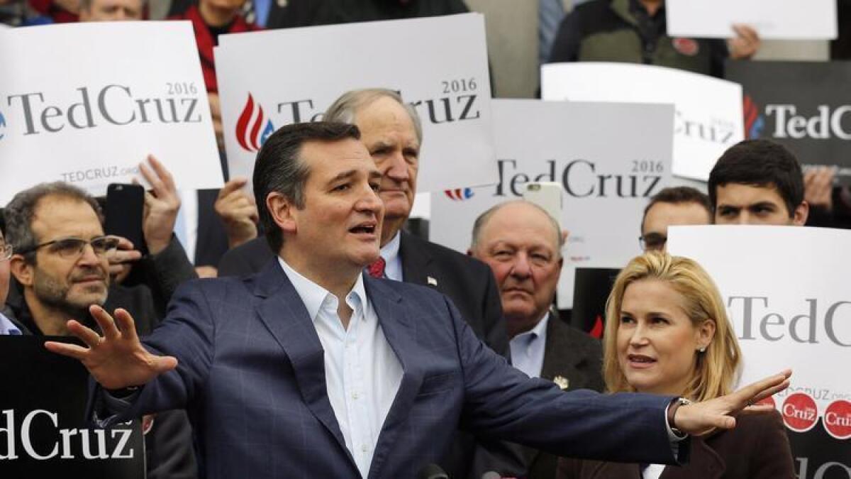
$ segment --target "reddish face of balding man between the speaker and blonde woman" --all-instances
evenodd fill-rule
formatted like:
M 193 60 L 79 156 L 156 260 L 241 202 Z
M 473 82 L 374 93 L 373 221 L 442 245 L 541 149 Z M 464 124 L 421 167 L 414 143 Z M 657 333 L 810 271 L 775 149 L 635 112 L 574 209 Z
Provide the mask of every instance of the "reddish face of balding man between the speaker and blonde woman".
M 511 337 L 532 329 L 550 308 L 562 270 L 558 234 L 533 205 L 505 205 L 471 251 L 494 271 Z

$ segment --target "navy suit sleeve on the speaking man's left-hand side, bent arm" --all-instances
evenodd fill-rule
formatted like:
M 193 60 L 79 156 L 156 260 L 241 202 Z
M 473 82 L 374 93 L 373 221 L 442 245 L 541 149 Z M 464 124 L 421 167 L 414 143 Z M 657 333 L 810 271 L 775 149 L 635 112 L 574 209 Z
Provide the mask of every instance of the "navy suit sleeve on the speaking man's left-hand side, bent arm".
M 176 357 L 177 368 L 153 379 L 129 401 L 116 401 L 96 388 L 94 413 L 101 426 L 183 409 L 203 390 L 214 357 L 213 309 L 205 288 L 194 282 L 190 286 L 181 286 L 174 293 L 166 320 L 143 341 L 152 354 Z

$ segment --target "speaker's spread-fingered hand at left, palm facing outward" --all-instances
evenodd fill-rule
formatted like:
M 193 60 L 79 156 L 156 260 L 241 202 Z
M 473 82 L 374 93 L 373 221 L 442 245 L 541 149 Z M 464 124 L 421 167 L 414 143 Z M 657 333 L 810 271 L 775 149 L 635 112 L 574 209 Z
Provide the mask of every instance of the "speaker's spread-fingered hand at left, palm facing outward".
M 44 347 L 83 362 L 94 380 L 107 390 L 141 386 L 177 367 L 177 359 L 173 356 L 151 355 L 142 347 L 133 317 L 126 310 L 116 309 L 115 320 L 94 304 L 89 312 L 103 331 L 102 337 L 76 320 L 68 321 L 68 330 L 88 348 L 53 341 L 44 343 Z

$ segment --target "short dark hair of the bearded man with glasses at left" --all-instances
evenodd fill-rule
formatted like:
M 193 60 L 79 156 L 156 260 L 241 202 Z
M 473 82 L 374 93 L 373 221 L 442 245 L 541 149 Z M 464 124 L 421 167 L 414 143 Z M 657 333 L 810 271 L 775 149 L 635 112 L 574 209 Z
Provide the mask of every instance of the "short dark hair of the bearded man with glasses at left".
M 15 194 L 3 210 L 6 242 L 12 245 L 14 251 L 30 250 L 37 245 L 38 241 L 43 240 L 36 238 L 36 235 L 32 233 L 32 219 L 36 215 L 38 202 L 49 196 L 87 203 L 98 216 L 98 220 L 103 222 L 100 205 L 89 193 L 65 182 L 40 183 Z M 25 253 L 24 259 L 27 263 L 35 264 L 36 251 Z

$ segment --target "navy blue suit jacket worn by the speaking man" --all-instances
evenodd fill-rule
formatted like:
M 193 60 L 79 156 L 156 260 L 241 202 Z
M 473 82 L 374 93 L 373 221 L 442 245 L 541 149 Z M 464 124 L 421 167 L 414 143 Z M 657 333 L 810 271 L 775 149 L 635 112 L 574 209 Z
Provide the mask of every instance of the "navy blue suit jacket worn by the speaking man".
M 415 476 L 459 427 L 559 455 L 674 462 L 671 398 L 565 393 L 509 366 L 442 294 L 368 277 L 365 286 L 403 366 L 369 478 Z M 359 476 L 328 401 L 322 344 L 277 261 L 243 280 L 181 286 L 145 343 L 180 364 L 101 424 L 186 407 L 207 477 Z

